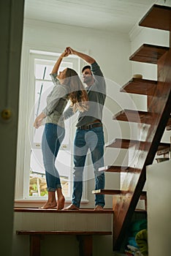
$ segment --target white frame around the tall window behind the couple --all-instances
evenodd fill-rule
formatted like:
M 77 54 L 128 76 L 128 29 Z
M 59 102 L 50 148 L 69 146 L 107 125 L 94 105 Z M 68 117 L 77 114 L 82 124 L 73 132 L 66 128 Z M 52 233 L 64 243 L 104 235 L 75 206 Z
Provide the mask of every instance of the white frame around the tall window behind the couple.
M 23 67 L 21 67 L 21 75 L 20 75 L 20 110 L 19 110 L 19 121 L 18 121 L 18 157 L 17 157 L 17 165 L 16 165 L 16 179 L 15 179 L 15 201 L 31 201 L 31 200 L 46 200 L 46 198 L 34 197 L 30 198 L 28 195 L 29 192 L 29 166 L 30 166 L 30 156 L 31 155 L 31 145 L 29 143 L 29 116 L 28 113 L 31 113 L 31 106 L 34 105 L 34 59 L 43 58 L 47 60 L 56 61 L 58 56 L 61 53 L 51 53 L 44 52 L 40 50 L 29 50 L 28 56 L 28 64 L 24 63 Z M 69 61 L 69 57 L 67 57 Z M 66 62 L 67 62 L 67 59 Z M 78 74 L 80 74 L 80 58 L 77 56 L 71 56 L 72 61 L 75 60 L 77 62 L 77 67 L 73 67 Z M 64 60 L 64 61 L 65 61 Z M 23 75 L 22 75 L 23 70 Z M 25 71 L 25 72 L 24 72 Z M 26 88 L 24 87 L 26 86 Z M 31 97 L 32 96 L 32 97 Z M 26 122 L 23 125 L 23 122 Z M 32 129 L 33 131 L 33 129 Z M 75 130 L 72 131 L 75 133 Z M 71 146 L 72 148 L 72 146 Z M 73 161 L 72 161 L 73 162 Z M 84 172 L 86 174 L 86 172 Z M 84 182 L 85 183 L 85 182 Z M 72 181 L 70 182 L 70 189 L 72 190 Z M 87 200 L 87 185 L 83 186 L 83 202 L 88 202 Z M 72 191 L 70 192 L 72 197 Z M 68 200 L 71 200 L 71 197 Z M 67 199 L 66 199 L 67 201 Z

